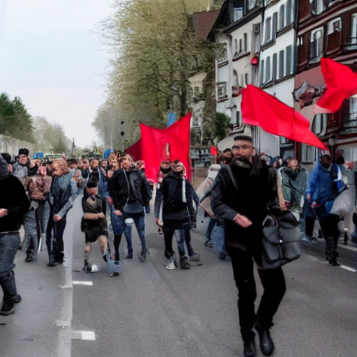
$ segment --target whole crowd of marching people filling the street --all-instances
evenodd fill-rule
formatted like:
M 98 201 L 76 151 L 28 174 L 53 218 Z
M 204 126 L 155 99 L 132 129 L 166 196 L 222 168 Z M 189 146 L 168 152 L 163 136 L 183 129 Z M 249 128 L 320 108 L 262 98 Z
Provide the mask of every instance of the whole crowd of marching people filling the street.
M 26 262 L 35 261 L 45 241 L 47 266 L 63 263 L 66 217 L 78 195 L 82 196 L 83 209 L 83 271 L 98 271 L 98 266 L 90 261 L 92 244 L 98 241 L 109 275 L 119 275 L 123 234 L 126 259 L 134 256 L 132 225 L 141 244 L 137 257 L 144 263 L 149 255 L 145 215 L 150 212 L 149 202 L 155 188 L 154 216 L 158 234 L 164 236 L 165 268 L 174 270 L 179 263 L 182 269 L 188 269 L 190 261 L 199 261 L 199 254 L 191 245 L 190 231 L 196 227 L 197 208 L 201 206 L 209 218 L 204 245 L 216 248 L 219 259 L 231 260 L 238 289 L 243 356 L 257 356 L 255 331 L 262 353 L 270 356 L 275 348 L 270 328 L 286 287 L 281 266 L 258 269 L 264 294 L 255 312 L 253 266 L 255 262 L 259 268 L 262 222 L 268 213 L 278 216 L 289 211 L 302 223 L 305 233 L 302 241 L 307 243 L 314 242 L 314 225 L 318 222 L 320 235 L 326 241 L 326 259 L 331 266 L 340 265 L 337 261 L 340 222 L 344 213 L 354 210 L 356 204 L 356 190 L 352 190 L 354 174 L 348 175 L 349 171 L 353 170 L 345 165 L 342 154 L 336 155 L 333 162 L 331 155 L 324 153 L 312 171 L 307 172 L 296 158 L 284 161 L 264 153 L 259 155 L 252 138 L 246 135 L 238 135 L 231 149 L 220 152 L 197 192 L 179 160 L 160 162 L 154 183 L 146 179 L 145 162 L 134 162 L 129 154 L 114 152 L 102 160 L 64 157 L 30 160 L 29 151 L 20 149 L 12 161 L 10 155 L 1 153 L 0 314 L 13 313 L 14 305 L 21 301 L 13 273 L 18 249 L 24 251 Z M 352 206 L 347 208 L 351 201 Z M 20 225 L 24 227 L 23 243 Z

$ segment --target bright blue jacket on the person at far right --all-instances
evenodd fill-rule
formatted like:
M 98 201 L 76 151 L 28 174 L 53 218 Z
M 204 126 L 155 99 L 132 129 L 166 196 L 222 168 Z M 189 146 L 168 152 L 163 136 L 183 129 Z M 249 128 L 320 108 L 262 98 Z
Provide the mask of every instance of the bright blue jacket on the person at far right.
M 309 177 L 309 187 L 307 194 L 310 193 L 312 202 L 325 204 L 333 201 L 337 193 L 333 190 L 333 180 L 337 179 L 340 168 L 336 164 L 331 164 L 328 169 L 318 162 L 312 169 Z

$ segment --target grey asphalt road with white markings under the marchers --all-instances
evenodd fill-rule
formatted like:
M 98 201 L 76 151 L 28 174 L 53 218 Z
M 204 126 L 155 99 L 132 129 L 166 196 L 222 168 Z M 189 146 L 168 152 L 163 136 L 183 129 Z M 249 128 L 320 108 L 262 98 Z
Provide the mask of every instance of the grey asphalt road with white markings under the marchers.
M 150 213 L 149 257 L 144 263 L 137 259 L 139 238 L 133 229 L 134 259 L 123 259 L 121 275 L 109 277 L 98 243 L 91 263 L 100 271 L 82 271 L 81 216 L 77 199 L 68 215 L 63 266 L 48 268 L 45 250 L 31 263 L 18 252 L 15 275 L 23 301 L 15 314 L 0 317 L 1 357 L 242 356 L 230 262 L 204 246 L 206 219 L 199 217 L 192 231 L 201 261 L 190 270 L 165 269 L 163 238 Z M 342 267 L 324 261 L 321 240 L 302 248 L 301 258 L 284 267 L 287 293 L 271 329 L 273 356 L 356 356 L 357 248 L 340 245 Z M 259 301 L 259 282 L 257 289 Z

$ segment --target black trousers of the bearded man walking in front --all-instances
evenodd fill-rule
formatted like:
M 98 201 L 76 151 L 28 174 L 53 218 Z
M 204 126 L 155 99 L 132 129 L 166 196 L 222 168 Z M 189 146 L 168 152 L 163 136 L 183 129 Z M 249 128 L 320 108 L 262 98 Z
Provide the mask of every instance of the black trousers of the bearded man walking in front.
M 231 257 L 234 280 L 238 289 L 238 315 L 243 340 L 251 335 L 252 328 L 259 324 L 261 328 L 273 326 L 273 316 L 277 312 L 286 286 L 282 268 L 272 270 L 258 269 L 259 278 L 264 288 L 263 296 L 255 313 L 257 289 L 254 277 L 252 253 L 227 246 Z

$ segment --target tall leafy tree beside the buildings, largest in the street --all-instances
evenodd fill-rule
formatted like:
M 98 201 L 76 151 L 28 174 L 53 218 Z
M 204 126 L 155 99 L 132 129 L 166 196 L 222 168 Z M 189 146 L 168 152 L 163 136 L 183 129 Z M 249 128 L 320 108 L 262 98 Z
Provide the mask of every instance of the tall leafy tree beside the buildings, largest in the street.
M 116 1 L 116 13 L 103 22 L 114 59 L 108 103 L 124 121 L 163 128 L 167 112 L 188 112 L 188 77 L 206 48 L 195 37 L 191 15 L 207 0 Z M 129 140 L 128 140 L 129 141 Z

